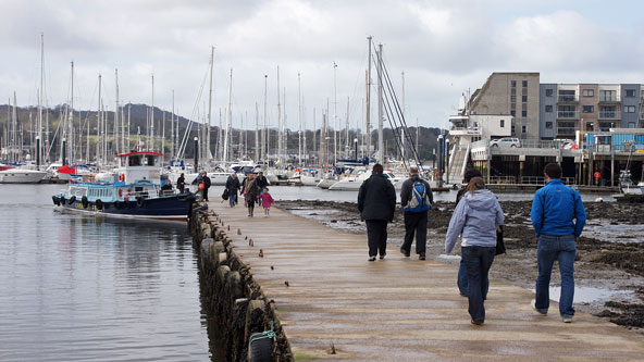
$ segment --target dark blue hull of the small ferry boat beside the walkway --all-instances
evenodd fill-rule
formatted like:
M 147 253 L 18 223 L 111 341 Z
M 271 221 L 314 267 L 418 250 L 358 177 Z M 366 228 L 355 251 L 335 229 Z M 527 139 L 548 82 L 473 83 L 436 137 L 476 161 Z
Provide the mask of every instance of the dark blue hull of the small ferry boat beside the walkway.
M 64 202 L 61 202 L 60 207 L 67 211 L 111 217 L 164 221 L 186 221 L 191 204 L 191 198 L 187 194 L 150 198 L 143 201 L 102 202 L 101 209 L 94 202 L 89 202 L 85 208 L 78 199 L 72 203 L 69 202 L 69 199 L 63 200 Z

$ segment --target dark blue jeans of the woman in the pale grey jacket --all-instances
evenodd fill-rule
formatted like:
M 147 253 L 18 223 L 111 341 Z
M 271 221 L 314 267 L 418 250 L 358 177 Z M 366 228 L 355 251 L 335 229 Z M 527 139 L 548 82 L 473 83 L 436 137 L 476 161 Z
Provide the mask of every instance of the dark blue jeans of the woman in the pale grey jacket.
M 471 246 L 462 247 L 460 250 L 468 273 L 468 312 L 470 312 L 472 321 L 484 322 L 485 307 L 483 305 L 483 297 L 485 295 L 485 285 L 483 280 L 487 279 L 487 273 L 494 261 L 496 248 Z

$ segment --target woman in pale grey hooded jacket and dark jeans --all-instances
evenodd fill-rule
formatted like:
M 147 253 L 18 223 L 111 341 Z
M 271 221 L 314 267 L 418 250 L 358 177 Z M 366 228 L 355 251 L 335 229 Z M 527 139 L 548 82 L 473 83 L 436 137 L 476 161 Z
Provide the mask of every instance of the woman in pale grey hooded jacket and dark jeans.
M 451 252 L 461 235 L 461 258 L 469 279 L 468 312 L 475 325 L 485 321 L 485 282 L 496 251 L 496 229 L 503 223 L 504 214 L 496 196 L 485 189 L 483 178 L 473 177 L 449 221 L 445 253 Z

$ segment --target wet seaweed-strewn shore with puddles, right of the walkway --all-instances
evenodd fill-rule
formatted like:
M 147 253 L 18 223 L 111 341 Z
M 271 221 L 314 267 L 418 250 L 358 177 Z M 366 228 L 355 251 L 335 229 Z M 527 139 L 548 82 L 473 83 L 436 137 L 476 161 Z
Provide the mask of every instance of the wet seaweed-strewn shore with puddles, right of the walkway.
M 503 201 L 500 204 L 506 215 L 504 239 L 507 253 L 495 258 L 491 277 L 534 289 L 536 237 L 530 224 L 532 202 Z M 275 205 L 331 227 L 366 233 L 364 223 L 360 222 L 356 203 L 352 202 L 277 201 Z M 584 205 L 589 221 L 577 241 L 575 287 L 580 289 L 575 295 L 574 307 L 579 311 L 644 333 L 644 204 L 598 202 Z M 430 211 L 428 258 L 456 264 L 458 258 L 441 255 L 454 208 L 454 202 L 437 202 Z M 403 258 L 398 249 L 404 234 L 403 215 L 397 211 L 394 222 L 388 226 L 388 258 Z M 455 253 L 459 252 L 455 250 Z M 555 263 L 552 286 L 559 286 L 559 280 Z M 558 296 L 550 295 L 550 298 L 555 297 Z M 550 304 L 550 309 L 556 308 L 556 303 Z

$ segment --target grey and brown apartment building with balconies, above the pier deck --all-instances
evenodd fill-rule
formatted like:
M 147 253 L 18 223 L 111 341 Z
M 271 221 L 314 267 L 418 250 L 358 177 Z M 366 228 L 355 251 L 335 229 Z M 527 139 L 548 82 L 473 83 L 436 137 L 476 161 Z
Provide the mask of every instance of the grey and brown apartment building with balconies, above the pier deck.
M 492 73 L 469 109 L 512 116 L 512 137 L 572 139 L 578 130 L 644 128 L 644 85 L 540 84 L 540 73 Z

